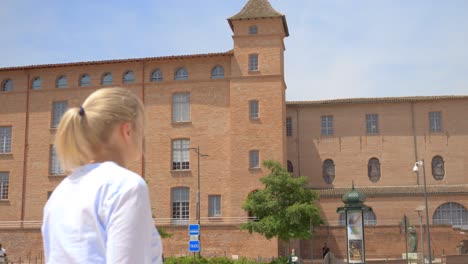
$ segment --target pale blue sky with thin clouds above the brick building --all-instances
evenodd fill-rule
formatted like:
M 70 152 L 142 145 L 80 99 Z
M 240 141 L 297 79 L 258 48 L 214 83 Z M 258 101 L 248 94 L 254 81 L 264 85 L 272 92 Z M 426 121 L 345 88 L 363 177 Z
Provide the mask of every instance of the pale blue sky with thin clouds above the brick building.
M 224 52 L 246 2 L 2 0 L 0 67 Z M 288 100 L 468 94 L 468 1 L 270 3 Z

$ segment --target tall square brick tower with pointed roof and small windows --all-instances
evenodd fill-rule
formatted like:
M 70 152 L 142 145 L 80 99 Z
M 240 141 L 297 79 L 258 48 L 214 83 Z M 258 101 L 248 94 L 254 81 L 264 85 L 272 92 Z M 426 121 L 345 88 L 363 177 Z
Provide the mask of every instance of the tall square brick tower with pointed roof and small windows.
M 228 19 L 234 49 L 230 78 L 231 212 L 261 188 L 264 160 L 286 164 L 284 38 L 286 18 L 267 0 L 249 0 Z M 255 159 L 258 159 L 258 166 Z

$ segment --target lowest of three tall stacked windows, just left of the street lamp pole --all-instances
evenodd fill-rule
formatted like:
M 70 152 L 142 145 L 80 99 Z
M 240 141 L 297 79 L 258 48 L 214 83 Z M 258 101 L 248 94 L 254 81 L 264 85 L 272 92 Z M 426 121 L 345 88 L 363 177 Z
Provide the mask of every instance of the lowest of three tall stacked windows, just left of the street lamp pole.
M 187 187 L 173 188 L 171 191 L 172 223 L 176 225 L 188 224 L 190 217 L 190 189 Z

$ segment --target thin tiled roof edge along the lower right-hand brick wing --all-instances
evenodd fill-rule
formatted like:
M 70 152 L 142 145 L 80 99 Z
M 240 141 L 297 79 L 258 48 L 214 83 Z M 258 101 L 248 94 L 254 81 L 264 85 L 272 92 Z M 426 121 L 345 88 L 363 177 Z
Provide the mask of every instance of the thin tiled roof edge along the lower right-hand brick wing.
M 380 104 L 380 103 L 410 103 L 438 100 L 462 100 L 468 99 L 468 95 L 444 95 L 444 96 L 410 96 L 410 97 L 380 97 L 380 98 L 346 98 L 321 101 L 288 101 L 288 106 L 319 106 L 340 104 Z

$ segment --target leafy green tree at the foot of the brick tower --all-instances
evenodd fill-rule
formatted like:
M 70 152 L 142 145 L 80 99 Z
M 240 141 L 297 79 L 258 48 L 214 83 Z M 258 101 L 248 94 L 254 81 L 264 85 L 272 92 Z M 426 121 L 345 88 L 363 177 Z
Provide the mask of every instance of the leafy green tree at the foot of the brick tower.
M 278 162 L 264 161 L 263 166 L 270 170 L 268 176 L 260 179 L 265 188 L 251 192 L 242 206 L 257 220 L 242 224 L 241 229 L 267 239 L 310 238 L 311 224 L 323 223 L 315 204 L 318 193 L 305 188 L 306 177 L 292 177 Z

